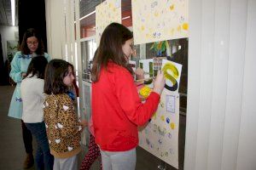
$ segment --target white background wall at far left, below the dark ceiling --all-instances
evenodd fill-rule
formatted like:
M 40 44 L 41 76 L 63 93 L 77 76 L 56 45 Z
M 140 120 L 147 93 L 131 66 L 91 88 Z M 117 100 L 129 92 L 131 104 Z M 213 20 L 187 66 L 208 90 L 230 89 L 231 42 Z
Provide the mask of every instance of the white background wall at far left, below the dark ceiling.
M 19 31 L 18 26 L 0 26 L 2 37 L 3 60 L 7 59 L 7 43 L 6 41 L 15 40 L 15 31 Z M 18 40 L 19 41 L 19 40 Z

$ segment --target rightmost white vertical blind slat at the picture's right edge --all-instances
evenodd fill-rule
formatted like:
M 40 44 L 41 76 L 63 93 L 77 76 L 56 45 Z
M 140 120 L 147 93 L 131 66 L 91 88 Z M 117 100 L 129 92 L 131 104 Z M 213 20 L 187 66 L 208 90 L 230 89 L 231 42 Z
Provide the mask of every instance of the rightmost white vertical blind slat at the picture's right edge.
M 247 3 L 247 36 L 237 170 L 256 169 L 256 1 Z

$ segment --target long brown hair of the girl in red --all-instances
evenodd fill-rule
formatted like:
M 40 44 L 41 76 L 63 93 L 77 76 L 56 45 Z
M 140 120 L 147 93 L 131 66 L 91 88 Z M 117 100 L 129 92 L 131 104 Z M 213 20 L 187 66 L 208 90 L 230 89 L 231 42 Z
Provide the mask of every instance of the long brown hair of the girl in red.
M 112 23 L 102 32 L 101 42 L 93 59 L 91 81 L 97 82 L 102 68 L 107 69 L 108 61 L 125 67 L 133 74 L 131 66 L 125 59 L 122 45 L 133 37 L 132 32 L 123 25 Z

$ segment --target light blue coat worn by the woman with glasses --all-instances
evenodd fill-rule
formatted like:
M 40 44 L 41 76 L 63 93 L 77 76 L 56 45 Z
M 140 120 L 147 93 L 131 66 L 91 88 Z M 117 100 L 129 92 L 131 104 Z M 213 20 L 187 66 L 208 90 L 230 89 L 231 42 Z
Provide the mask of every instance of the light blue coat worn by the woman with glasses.
M 45 58 L 49 61 L 49 54 L 44 53 Z M 11 71 L 9 77 L 11 77 L 16 83 L 15 92 L 10 102 L 8 116 L 21 119 L 22 116 L 22 99 L 20 97 L 20 82 L 22 81 L 21 72 L 27 71 L 27 67 L 32 59 L 31 54 L 21 54 L 18 51 L 15 54 L 14 59 L 11 62 Z

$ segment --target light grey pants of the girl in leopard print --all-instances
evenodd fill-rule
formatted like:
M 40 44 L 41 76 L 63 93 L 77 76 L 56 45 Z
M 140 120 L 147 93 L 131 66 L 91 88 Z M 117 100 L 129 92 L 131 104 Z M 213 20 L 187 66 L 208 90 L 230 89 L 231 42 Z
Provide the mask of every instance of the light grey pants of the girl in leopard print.
M 78 170 L 78 157 L 56 158 L 53 170 Z

